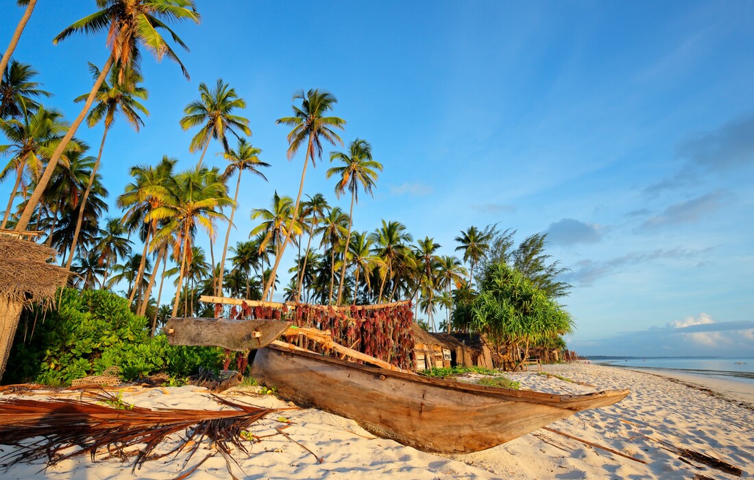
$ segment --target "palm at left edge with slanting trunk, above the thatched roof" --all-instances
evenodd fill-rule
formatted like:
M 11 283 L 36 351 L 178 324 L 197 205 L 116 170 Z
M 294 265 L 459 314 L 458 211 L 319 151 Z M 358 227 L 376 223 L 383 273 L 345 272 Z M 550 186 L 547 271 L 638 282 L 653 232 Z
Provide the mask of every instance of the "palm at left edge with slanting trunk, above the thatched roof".
M 8 198 L 8 208 L 5 209 L 0 228 L 5 228 L 5 224 L 8 223 L 8 215 L 11 213 L 19 188 L 23 186 L 24 175 L 28 174 L 31 180 L 39 179 L 45 160 L 50 158 L 63 142 L 63 136 L 68 128 L 69 125 L 63 120 L 63 114 L 60 111 L 45 109 L 44 106 L 40 106 L 32 115 L 25 115 L 23 122 L 15 118 L 0 122 L 0 131 L 11 142 L 0 146 L 0 153 L 11 155 L 11 161 L 0 172 L 0 181 L 5 180 L 11 173 L 16 174 L 16 183 L 11 190 L 11 197 Z M 68 148 L 63 150 L 61 161 L 69 162 L 68 155 L 72 152 L 81 152 L 81 150 L 81 143 L 73 140 Z

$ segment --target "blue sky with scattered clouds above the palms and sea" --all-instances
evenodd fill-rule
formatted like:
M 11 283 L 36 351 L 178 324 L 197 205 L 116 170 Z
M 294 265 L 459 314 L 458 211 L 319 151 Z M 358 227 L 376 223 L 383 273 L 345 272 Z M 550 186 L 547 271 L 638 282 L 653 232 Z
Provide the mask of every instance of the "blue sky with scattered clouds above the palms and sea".
M 146 127 L 135 134 L 120 122 L 109 134 L 111 203 L 131 165 L 162 155 L 195 165 L 195 132 L 178 119 L 199 82 L 220 77 L 247 100 L 251 141 L 273 165 L 269 183 L 244 182 L 231 242 L 245 239 L 251 208 L 276 189 L 297 192 L 302 155 L 286 160 L 287 129 L 275 119 L 289 114 L 294 91 L 323 88 L 348 122 L 343 140 L 369 140 L 385 165 L 374 198 L 354 211 L 356 229 L 398 220 L 443 254 L 471 225 L 499 223 L 518 240 L 548 232 L 549 253 L 571 269 L 565 303 L 578 352 L 754 352 L 750 2 L 197 5 L 201 24 L 176 26 L 191 48 L 179 54 L 191 81 L 145 52 Z M 51 38 L 94 9 L 40 2 L 15 54 L 69 118 L 91 85 L 87 61 L 106 59 L 105 39 Z M 5 48 L 22 11 L 11 2 L 2 11 Z M 78 137 L 97 145 L 101 133 Z M 210 165 L 225 162 L 219 149 L 210 146 Z M 327 163 L 308 172 L 305 192 L 347 209 Z M 0 184 L 0 198 L 10 188 Z M 677 334 L 694 325 L 705 326 Z

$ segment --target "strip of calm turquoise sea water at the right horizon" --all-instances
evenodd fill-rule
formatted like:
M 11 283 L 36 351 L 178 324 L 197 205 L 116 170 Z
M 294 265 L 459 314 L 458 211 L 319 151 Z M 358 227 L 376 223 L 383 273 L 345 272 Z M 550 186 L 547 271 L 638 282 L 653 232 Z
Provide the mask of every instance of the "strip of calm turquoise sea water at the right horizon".
M 678 371 L 679 373 L 754 383 L 754 357 L 594 358 L 592 362 L 613 365 L 615 367 L 657 368 Z

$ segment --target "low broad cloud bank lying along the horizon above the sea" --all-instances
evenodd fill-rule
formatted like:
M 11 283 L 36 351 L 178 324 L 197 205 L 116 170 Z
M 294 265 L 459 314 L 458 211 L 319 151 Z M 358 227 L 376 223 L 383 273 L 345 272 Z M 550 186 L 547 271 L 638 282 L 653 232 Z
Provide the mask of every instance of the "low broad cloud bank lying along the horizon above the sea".
M 663 327 L 574 342 L 572 346 L 586 355 L 748 355 L 754 351 L 754 322 L 716 322 L 702 312 Z

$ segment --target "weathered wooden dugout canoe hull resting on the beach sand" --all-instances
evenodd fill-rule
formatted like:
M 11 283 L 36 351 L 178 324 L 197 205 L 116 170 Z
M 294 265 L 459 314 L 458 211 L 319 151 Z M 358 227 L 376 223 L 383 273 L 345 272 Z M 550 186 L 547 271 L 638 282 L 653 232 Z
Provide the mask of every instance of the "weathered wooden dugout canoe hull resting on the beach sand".
M 628 390 L 554 395 L 388 371 L 270 345 L 252 375 L 302 405 L 356 420 L 364 429 L 421 451 L 469 453 L 578 411 L 620 402 Z

